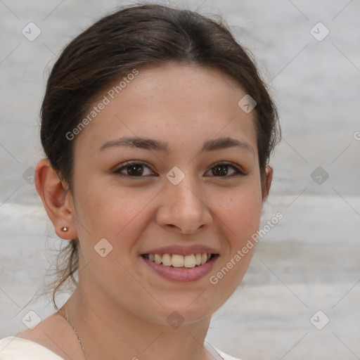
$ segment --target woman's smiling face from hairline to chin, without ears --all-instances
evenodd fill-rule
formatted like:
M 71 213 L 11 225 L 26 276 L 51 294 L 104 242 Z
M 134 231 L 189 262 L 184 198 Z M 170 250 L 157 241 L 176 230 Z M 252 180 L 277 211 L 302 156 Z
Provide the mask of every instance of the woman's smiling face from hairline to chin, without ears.
M 73 140 L 69 194 L 89 299 L 165 323 L 173 311 L 211 316 L 233 293 L 255 247 L 234 257 L 262 210 L 256 114 L 238 106 L 245 94 L 217 70 L 168 64 L 99 96 L 94 105 L 110 102 Z M 119 141 L 130 137 L 151 141 Z M 193 267 L 199 253 L 212 257 Z

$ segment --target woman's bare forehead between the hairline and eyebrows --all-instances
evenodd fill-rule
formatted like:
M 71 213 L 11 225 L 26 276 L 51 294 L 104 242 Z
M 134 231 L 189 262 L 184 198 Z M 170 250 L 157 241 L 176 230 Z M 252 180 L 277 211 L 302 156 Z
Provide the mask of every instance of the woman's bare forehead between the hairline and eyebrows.
M 120 136 L 145 135 L 194 147 L 217 134 L 238 134 L 256 148 L 256 113 L 239 108 L 246 93 L 229 75 L 171 63 L 129 74 L 136 75 L 117 79 L 91 105 L 94 113 L 106 103 L 77 136 L 77 148 L 86 145 L 89 151 Z

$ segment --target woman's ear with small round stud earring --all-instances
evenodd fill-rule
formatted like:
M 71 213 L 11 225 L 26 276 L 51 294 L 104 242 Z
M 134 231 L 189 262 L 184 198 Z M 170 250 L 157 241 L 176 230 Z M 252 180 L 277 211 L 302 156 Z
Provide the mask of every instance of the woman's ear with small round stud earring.
M 72 194 L 64 187 L 49 159 L 42 159 L 37 163 L 35 187 L 59 238 L 77 238 Z M 62 231 L 63 226 L 68 231 Z

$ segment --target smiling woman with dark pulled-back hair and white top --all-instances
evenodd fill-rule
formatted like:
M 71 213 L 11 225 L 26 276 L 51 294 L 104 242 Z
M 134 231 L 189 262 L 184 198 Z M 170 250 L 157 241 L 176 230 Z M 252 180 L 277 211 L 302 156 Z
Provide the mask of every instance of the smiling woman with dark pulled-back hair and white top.
M 279 130 L 224 25 L 147 4 L 79 34 L 49 76 L 36 169 L 70 242 L 55 292 L 79 279 L 0 359 L 234 359 L 205 336 L 248 269 Z

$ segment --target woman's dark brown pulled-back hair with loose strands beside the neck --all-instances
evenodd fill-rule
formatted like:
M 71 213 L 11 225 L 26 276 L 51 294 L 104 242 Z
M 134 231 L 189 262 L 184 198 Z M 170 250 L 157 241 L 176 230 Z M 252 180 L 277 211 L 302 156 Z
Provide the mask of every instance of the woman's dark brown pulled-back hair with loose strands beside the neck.
M 121 8 L 79 34 L 63 49 L 51 70 L 41 107 L 41 143 L 53 169 L 72 191 L 75 129 L 94 98 L 134 68 L 167 62 L 195 63 L 230 75 L 257 102 L 259 169 L 264 172 L 281 131 L 274 102 L 252 60 L 221 21 L 157 4 Z M 251 56 L 252 57 L 252 56 Z M 240 100 L 240 99 L 239 99 Z M 55 295 L 78 269 L 78 239 L 62 259 Z

